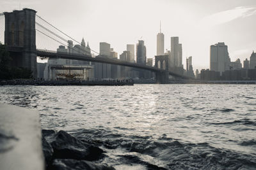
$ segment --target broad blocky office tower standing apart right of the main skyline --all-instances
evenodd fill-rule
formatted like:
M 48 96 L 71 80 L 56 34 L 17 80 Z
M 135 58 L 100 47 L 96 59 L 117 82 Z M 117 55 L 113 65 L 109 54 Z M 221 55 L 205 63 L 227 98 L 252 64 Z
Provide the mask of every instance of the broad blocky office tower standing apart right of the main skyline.
M 228 46 L 225 43 L 211 45 L 210 51 L 210 70 L 220 71 L 222 74 L 225 70 L 230 69 L 230 58 L 228 55 Z

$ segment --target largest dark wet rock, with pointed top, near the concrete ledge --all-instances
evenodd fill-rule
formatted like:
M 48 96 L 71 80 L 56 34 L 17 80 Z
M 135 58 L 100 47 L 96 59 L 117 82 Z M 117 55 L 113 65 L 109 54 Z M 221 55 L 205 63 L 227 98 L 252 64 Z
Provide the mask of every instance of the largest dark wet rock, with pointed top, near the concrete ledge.
M 74 138 L 65 131 L 59 131 L 51 141 L 54 159 L 99 160 L 103 150 Z

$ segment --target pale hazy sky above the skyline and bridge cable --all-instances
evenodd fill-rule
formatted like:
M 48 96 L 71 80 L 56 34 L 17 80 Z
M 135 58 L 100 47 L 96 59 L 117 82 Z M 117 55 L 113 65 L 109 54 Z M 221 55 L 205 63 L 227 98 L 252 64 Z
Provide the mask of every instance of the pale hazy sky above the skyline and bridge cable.
M 156 36 L 179 36 L 183 64 L 193 57 L 193 68 L 209 68 L 210 46 L 228 45 L 232 61 L 256 51 L 255 0 L 0 0 L 0 12 L 31 8 L 77 41 L 82 38 L 99 52 L 99 42 L 111 44 L 118 55 L 127 44 L 145 41 L 147 57 L 156 55 Z

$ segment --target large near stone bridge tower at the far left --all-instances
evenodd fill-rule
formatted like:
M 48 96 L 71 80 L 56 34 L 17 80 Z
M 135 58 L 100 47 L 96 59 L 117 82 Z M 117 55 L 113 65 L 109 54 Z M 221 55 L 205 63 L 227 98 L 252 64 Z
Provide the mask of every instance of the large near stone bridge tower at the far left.
M 36 78 L 36 11 L 28 8 L 5 12 L 4 43 L 15 49 L 10 55 L 13 66 L 28 68 Z

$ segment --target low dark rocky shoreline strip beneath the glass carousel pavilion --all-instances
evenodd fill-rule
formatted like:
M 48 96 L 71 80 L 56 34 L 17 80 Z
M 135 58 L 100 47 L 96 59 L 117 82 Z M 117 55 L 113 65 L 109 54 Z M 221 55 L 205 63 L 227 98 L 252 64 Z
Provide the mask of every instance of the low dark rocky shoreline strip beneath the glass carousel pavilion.
M 104 85 L 104 86 L 122 86 L 134 85 L 133 80 L 93 80 L 93 81 L 44 81 L 44 80 L 0 80 L 1 85 L 44 85 L 44 86 L 60 86 L 60 85 Z

